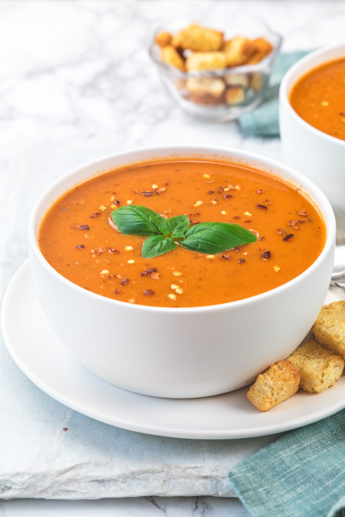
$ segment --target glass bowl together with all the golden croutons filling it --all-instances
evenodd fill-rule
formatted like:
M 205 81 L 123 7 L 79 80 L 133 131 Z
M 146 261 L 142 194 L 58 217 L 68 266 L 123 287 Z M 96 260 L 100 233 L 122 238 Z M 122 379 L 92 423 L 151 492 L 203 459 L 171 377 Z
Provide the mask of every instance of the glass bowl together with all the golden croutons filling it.
M 170 94 L 186 112 L 233 120 L 263 99 L 281 37 L 257 17 L 221 22 L 173 22 L 154 34 L 149 53 Z

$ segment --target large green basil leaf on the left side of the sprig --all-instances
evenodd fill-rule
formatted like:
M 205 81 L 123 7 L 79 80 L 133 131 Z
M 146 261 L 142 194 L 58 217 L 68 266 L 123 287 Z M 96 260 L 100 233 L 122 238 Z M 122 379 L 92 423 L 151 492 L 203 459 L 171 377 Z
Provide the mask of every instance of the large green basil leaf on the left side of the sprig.
M 111 212 L 113 223 L 124 235 L 158 235 L 164 218 L 143 205 L 121 206 Z

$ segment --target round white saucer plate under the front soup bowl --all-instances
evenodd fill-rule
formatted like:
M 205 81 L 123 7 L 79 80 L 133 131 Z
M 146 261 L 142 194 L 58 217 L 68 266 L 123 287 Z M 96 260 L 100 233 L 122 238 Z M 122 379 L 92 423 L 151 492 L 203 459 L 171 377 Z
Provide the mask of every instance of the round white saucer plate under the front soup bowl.
M 331 287 L 326 303 L 341 299 L 342 291 Z M 82 325 L 82 315 L 76 317 Z M 117 388 L 86 370 L 57 339 L 41 309 L 28 261 L 8 287 L 1 323 L 9 353 L 36 386 L 84 415 L 131 431 L 178 438 L 247 438 L 302 427 L 345 407 L 345 375 L 333 388 L 319 394 L 299 391 L 266 413 L 250 404 L 247 388 L 202 399 L 161 399 Z M 290 324 L 287 315 L 281 331 Z

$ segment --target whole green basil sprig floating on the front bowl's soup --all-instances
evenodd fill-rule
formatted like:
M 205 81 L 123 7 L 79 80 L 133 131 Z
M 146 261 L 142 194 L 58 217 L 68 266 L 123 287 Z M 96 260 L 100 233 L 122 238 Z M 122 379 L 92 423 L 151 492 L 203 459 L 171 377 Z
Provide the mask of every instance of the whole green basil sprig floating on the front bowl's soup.
M 179 244 L 186 250 L 221 253 L 257 240 L 254 234 L 239 224 L 207 222 L 190 226 L 185 215 L 164 219 L 142 205 L 117 208 L 111 218 L 124 235 L 148 235 L 141 250 L 144 258 L 168 253 Z

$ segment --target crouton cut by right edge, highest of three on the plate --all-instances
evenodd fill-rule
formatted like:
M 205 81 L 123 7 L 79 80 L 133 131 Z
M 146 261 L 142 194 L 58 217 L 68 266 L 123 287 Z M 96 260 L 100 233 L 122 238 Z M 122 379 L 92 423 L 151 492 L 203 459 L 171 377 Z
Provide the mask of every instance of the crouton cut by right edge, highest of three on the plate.
M 324 305 L 311 331 L 318 343 L 345 359 L 345 301 Z

